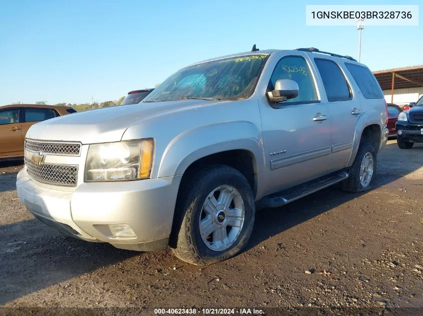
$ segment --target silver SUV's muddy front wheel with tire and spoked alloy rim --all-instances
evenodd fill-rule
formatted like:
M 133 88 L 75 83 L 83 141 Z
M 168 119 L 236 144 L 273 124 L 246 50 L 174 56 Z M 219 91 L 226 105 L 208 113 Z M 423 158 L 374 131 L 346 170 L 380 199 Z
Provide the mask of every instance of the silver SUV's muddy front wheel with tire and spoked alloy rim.
M 182 188 L 184 189 L 184 188 Z M 251 187 L 236 169 L 217 165 L 199 172 L 178 199 L 173 253 L 209 265 L 240 253 L 254 225 Z

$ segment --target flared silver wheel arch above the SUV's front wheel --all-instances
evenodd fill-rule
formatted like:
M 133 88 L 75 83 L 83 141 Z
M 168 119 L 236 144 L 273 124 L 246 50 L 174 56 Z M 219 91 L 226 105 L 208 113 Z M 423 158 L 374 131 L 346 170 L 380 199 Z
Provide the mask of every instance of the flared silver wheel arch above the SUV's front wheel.
M 183 174 L 200 158 L 234 149 L 250 151 L 260 174 L 264 166 L 261 132 L 251 122 L 230 121 L 196 127 L 172 139 L 160 161 L 158 177 Z

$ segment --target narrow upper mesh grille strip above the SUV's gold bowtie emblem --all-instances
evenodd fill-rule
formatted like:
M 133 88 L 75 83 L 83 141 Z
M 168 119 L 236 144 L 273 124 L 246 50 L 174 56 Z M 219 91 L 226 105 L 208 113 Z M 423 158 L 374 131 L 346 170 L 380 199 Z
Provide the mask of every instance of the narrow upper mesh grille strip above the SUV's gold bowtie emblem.
M 61 142 L 48 142 L 48 141 L 34 141 L 25 140 L 25 149 L 30 151 L 63 155 L 63 156 L 79 156 L 81 153 L 80 143 L 61 143 Z

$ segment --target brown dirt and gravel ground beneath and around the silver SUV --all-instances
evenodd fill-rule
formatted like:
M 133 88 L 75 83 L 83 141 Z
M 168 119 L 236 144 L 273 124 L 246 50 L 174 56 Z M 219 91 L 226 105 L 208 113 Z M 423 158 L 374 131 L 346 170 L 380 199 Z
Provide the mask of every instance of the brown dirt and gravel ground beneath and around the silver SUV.
M 0 306 L 423 307 L 423 144 L 389 141 L 370 192 L 261 211 L 247 249 L 207 268 L 62 236 L 19 201 L 21 168 L 0 163 Z

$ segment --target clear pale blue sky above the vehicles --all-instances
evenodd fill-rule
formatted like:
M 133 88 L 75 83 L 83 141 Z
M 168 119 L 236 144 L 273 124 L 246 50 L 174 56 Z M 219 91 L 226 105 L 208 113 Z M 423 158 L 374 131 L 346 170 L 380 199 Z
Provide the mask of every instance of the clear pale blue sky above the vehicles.
M 367 26 L 371 70 L 423 64 L 419 26 Z M 420 2 L 420 3 L 419 3 Z M 357 57 L 354 26 L 306 26 L 314 0 L 0 0 L 0 105 L 116 100 L 196 61 L 260 49 L 317 47 Z M 345 4 L 352 4 L 347 3 Z

